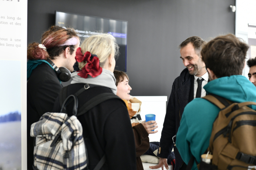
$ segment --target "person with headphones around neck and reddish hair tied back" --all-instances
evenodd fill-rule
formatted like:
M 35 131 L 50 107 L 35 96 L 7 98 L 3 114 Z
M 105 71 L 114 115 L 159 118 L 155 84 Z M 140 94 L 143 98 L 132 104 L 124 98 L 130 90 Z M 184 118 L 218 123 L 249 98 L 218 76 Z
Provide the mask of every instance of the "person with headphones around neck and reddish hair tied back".
M 52 26 L 44 32 L 41 44 L 33 42 L 27 50 L 27 169 L 32 170 L 34 139 L 30 126 L 51 112 L 61 82 L 67 82 L 74 70 L 80 40 L 73 28 Z

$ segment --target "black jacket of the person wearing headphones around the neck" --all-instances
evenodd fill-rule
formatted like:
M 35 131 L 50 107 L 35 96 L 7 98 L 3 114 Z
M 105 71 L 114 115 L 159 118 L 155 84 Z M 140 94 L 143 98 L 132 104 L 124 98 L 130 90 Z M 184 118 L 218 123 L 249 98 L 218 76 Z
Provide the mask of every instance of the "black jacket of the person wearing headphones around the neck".
M 42 63 L 32 71 L 27 82 L 27 167 L 33 170 L 34 138 L 30 137 L 30 126 L 40 117 L 51 112 L 62 85 L 55 71 Z

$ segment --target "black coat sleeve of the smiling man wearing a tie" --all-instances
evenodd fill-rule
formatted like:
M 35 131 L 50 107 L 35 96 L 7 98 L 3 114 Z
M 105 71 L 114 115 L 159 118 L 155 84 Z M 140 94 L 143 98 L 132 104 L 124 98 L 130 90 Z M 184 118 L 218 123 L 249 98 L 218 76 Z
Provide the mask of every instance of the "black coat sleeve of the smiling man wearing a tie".
M 169 154 L 171 153 L 173 147 L 172 137 L 175 136 L 176 133 L 175 127 L 175 85 L 173 83 L 172 92 L 166 109 L 166 116 L 163 122 L 163 130 L 159 145 L 159 148 L 161 148 L 161 150 L 159 153 L 158 149 L 158 157 L 168 158 Z

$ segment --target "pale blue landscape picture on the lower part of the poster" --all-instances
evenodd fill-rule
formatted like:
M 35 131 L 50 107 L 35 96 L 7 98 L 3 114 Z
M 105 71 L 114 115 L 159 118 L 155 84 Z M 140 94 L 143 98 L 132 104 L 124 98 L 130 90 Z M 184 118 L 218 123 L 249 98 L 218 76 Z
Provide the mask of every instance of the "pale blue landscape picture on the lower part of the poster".
M 0 60 L 0 170 L 21 170 L 21 62 Z

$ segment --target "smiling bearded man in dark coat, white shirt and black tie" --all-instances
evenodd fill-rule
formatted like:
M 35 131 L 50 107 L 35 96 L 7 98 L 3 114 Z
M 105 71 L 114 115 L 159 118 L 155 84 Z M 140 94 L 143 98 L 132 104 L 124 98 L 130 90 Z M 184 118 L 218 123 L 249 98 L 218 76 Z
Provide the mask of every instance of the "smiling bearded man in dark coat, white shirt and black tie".
M 150 167 L 151 169 L 162 167 L 163 170 L 163 166 L 168 169 L 167 158 L 172 148 L 175 152 L 175 170 L 186 169 L 186 164 L 181 159 L 177 148 L 174 147 L 172 138 L 178 131 L 185 106 L 195 97 L 206 95 L 203 86 L 208 82 L 208 73 L 200 56 L 204 44 L 204 40 L 194 36 L 189 37 L 179 46 L 180 58 L 186 68 L 173 82 L 157 153 L 157 156 L 160 157 L 159 164 Z

